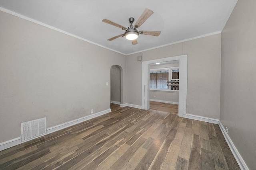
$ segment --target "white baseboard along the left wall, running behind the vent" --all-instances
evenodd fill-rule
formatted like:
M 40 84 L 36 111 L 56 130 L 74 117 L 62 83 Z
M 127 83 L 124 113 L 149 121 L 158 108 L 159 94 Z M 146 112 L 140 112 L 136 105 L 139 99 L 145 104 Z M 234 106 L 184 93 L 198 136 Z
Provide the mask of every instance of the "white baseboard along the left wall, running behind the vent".
M 38 137 L 47 135 L 47 134 L 49 134 L 49 133 L 53 133 L 53 132 L 55 132 L 55 131 L 64 129 L 64 128 L 66 128 L 66 127 L 70 127 L 70 126 L 72 126 L 72 125 L 76 125 L 76 124 L 78 124 L 78 123 L 81 123 L 81 122 L 83 122 L 83 121 L 92 119 L 92 118 L 94 118 L 94 117 L 98 117 L 98 116 L 100 116 L 100 115 L 104 115 L 104 114 L 106 114 L 106 113 L 109 113 L 110 111 L 111 111 L 111 109 L 107 109 L 107 110 L 104 110 L 104 111 L 100 111 L 100 112 L 98 112 L 98 113 L 94 113 L 94 114 L 92 114 L 92 115 L 88 115 L 88 116 L 85 116 L 85 117 L 81 117 L 81 118 L 79 118 L 79 119 L 75 119 L 75 120 L 72 120 L 72 121 L 68 121 L 68 122 L 66 122 L 66 123 L 62 123 L 62 124 L 60 124 L 60 125 L 56 125 L 56 126 L 54 126 L 54 127 L 49 127 L 49 128 L 47 128 L 46 133 L 44 133 L 44 134 L 42 134 L 42 135 L 40 135 L 40 136 L 37 136 L 37 137 L 35 137 L 35 138 L 38 138 Z M 32 138 L 32 139 L 35 139 L 35 138 Z M 32 140 L 32 139 L 30 139 L 30 140 Z M 30 141 L 30 140 L 27 140 L 27 141 Z M 27 141 L 23 141 L 23 142 L 22 142 L 22 141 L 21 141 L 21 137 L 17 137 L 17 138 L 15 138 L 15 139 L 11 139 L 11 140 L 9 140 L 9 141 L 2 142 L 2 143 L 0 143 L 0 151 L 1 151 L 1 150 L 4 150 L 4 149 L 8 149 L 8 148 L 10 148 L 10 147 L 14 147 L 14 146 L 16 146 L 16 145 L 19 145 L 19 144 L 24 143 L 24 142 L 27 142 Z

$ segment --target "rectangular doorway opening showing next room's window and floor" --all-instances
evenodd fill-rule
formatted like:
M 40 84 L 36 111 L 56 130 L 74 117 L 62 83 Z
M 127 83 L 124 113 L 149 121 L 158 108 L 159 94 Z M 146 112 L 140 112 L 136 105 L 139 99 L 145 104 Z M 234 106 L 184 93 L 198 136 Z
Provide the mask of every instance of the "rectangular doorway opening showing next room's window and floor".
M 150 109 L 178 115 L 179 61 L 150 64 Z

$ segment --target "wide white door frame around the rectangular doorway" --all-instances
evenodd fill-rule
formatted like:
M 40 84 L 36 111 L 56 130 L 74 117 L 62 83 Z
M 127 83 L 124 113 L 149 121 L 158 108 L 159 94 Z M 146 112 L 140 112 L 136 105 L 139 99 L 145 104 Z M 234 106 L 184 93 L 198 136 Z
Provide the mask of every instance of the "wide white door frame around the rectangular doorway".
M 188 80 L 188 55 L 179 55 L 163 59 L 142 61 L 142 94 L 141 108 L 149 109 L 149 70 L 150 64 L 162 63 L 167 61 L 179 61 L 180 79 L 179 79 L 179 116 L 183 117 L 187 112 L 187 80 Z

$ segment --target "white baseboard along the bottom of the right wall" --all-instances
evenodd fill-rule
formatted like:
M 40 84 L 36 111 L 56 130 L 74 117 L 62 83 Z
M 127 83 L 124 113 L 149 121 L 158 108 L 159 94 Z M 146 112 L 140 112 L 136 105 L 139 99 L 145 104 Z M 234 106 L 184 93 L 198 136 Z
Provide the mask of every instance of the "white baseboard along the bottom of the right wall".
M 240 153 L 236 149 L 236 146 L 234 145 L 234 143 L 232 142 L 232 140 L 228 136 L 228 133 L 225 131 L 225 128 L 224 128 L 224 126 L 222 125 L 222 123 L 220 121 L 219 121 L 219 126 L 220 126 L 220 129 L 221 129 L 221 131 L 223 133 L 223 136 L 225 137 L 226 142 L 228 143 L 228 146 L 229 146 L 232 154 L 234 155 L 234 157 L 236 159 L 236 162 L 238 163 L 239 167 L 242 170 L 249 170 L 248 166 L 244 162 L 242 156 L 240 155 Z

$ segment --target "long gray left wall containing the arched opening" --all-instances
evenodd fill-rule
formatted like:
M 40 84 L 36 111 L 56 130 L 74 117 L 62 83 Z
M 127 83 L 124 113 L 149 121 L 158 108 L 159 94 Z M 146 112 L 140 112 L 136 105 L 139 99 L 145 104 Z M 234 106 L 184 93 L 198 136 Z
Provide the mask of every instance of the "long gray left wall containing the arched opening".
M 111 66 L 126 75 L 124 55 L 5 12 L 0 37 L 0 143 L 22 122 L 46 117 L 48 128 L 110 109 Z

